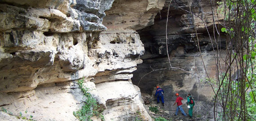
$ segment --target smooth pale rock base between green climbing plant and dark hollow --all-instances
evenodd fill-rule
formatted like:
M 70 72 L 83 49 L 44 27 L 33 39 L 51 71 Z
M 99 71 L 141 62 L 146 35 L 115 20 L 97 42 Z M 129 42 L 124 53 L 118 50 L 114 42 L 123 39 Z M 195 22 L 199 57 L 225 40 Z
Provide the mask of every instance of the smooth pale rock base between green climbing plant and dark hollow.
M 103 112 L 106 121 L 133 121 L 136 117 L 151 121 L 143 106 L 140 89 L 131 80 L 97 84 L 93 94 L 98 95 L 97 99 L 106 108 Z

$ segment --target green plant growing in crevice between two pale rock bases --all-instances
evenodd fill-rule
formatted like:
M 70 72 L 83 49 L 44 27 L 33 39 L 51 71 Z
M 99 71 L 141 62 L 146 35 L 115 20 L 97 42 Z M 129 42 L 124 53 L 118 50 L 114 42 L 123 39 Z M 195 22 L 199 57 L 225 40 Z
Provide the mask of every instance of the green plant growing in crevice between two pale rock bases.
M 89 92 L 89 89 L 83 86 L 84 78 L 78 80 L 79 88 L 84 93 L 85 102 L 81 109 L 73 112 L 73 115 L 79 119 L 79 121 L 92 121 L 91 117 L 100 117 L 102 121 L 105 121 L 104 116 L 97 111 L 99 106 L 97 100 L 93 98 L 93 95 Z

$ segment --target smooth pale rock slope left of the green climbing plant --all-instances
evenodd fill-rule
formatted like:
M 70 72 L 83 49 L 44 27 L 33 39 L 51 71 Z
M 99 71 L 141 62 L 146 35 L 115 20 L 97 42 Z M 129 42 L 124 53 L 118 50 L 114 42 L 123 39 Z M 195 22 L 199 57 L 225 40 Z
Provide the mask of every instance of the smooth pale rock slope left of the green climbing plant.
M 3 94 L 0 98 L 1 105 L 12 102 L 2 108 L 14 116 L 19 116 L 21 112 L 22 117 L 33 116 L 32 119 L 37 121 L 75 121 L 73 111 L 79 109 L 84 100 L 76 82 L 43 84 L 33 91 Z M 1 118 L 1 121 L 18 120 L 17 117 L 12 120 L 7 116 Z

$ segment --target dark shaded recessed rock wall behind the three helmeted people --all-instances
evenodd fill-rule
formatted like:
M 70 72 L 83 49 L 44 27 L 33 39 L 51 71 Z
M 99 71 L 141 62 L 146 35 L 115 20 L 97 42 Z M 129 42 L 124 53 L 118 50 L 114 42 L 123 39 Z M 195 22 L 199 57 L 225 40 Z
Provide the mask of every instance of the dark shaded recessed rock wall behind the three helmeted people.
M 188 3 L 190 1 L 190 3 Z M 212 13 L 211 4 L 209 0 L 172 0 L 169 16 L 168 16 L 168 53 L 170 56 L 170 63 L 172 67 L 178 67 L 184 69 L 163 69 L 169 68 L 169 60 L 167 57 L 166 49 L 166 19 L 168 12 L 168 5 L 170 0 L 166 0 L 163 10 L 158 13 L 154 19 L 154 25 L 146 27 L 142 30 L 138 30 L 141 37 L 141 41 L 145 47 L 145 54 L 141 56 L 143 63 L 137 66 L 137 70 L 133 72 L 132 82 L 138 85 L 141 89 L 142 96 L 151 95 L 152 98 L 144 98 L 146 102 L 152 100 L 151 104 L 156 104 L 156 98 L 154 98 L 155 86 L 160 86 L 164 91 L 165 105 L 159 104 L 160 108 L 168 110 L 171 116 L 175 113 L 177 106 L 172 106 L 174 104 L 176 97 L 175 93 L 179 93 L 186 102 L 186 95 L 191 93 L 195 99 L 196 105 L 194 108 L 194 117 L 201 116 L 199 121 L 206 121 L 207 119 L 213 120 L 212 116 L 212 87 L 204 81 L 201 81 L 197 76 L 193 76 L 185 71 L 194 73 L 201 78 L 216 77 L 216 66 L 213 48 L 216 52 L 216 38 L 217 43 L 221 43 L 218 48 L 225 48 L 225 36 L 218 36 L 216 29 L 213 29 L 213 19 L 212 15 L 215 17 L 214 22 L 217 23 L 216 7 L 214 6 Z M 214 3 L 216 4 L 216 3 Z M 184 10 L 182 10 L 182 9 Z M 194 23 L 190 15 L 190 8 L 193 15 Z M 161 15 L 161 16 L 160 16 Z M 202 20 L 199 18 L 201 17 Z M 219 20 L 221 18 L 219 17 Z M 205 23 L 205 25 L 203 24 Z M 204 70 L 203 61 L 198 49 L 197 37 L 194 31 L 194 26 L 196 26 L 199 46 L 202 51 L 202 58 L 204 65 L 207 70 L 207 74 Z M 207 33 L 207 29 L 209 34 Z M 214 37 L 215 32 L 215 37 Z M 209 35 L 212 39 L 209 39 Z M 213 43 L 213 47 L 212 47 Z M 225 51 L 219 51 L 220 60 L 225 58 Z M 221 63 L 222 69 L 224 70 L 224 65 Z M 162 69 L 149 73 L 153 69 Z M 146 76 L 144 76 L 146 73 Z M 144 76 L 144 77 L 143 77 Z M 143 77 L 141 79 L 141 77 Z M 186 105 L 183 106 L 185 112 L 188 113 Z M 162 116 L 162 114 L 159 116 Z M 164 116 L 163 117 L 167 117 Z M 174 121 L 183 120 L 180 118 L 174 119 Z M 183 121 L 189 121 L 184 119 Z

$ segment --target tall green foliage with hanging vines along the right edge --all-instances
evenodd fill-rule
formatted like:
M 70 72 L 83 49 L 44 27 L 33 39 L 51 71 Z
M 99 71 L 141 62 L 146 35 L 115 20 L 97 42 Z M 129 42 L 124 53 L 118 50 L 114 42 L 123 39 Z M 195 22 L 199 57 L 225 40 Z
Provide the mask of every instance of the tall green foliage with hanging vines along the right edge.
M 216 101 L 221 105 L 217 121 L 252 121 L 256 118 L 256 0 L 221 0 L 217 4 L 217 13 L 225 20 L 221 31 L 230 42 L 227 50 L 233 51 L 227 57 L 235 60 L 226 62 L 231 68 L 216 83 Z

